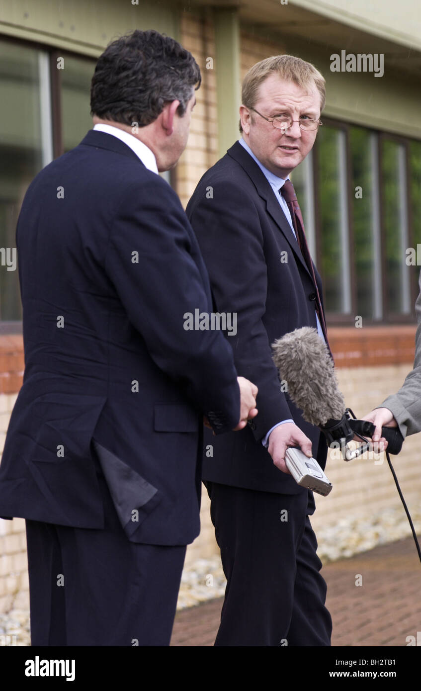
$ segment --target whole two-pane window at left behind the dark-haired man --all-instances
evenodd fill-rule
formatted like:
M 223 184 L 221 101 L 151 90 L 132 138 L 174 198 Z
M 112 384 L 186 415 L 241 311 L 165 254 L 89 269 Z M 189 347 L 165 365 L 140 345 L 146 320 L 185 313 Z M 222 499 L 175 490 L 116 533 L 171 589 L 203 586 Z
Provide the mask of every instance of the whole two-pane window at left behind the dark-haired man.
M 63 70 L 57 70 L 52 51 L 0 40 L 0 332 L 21 331 L 19 276 L 12 258 L 28 185 L 53 160 L 53 149 L 56 155 L 71 149 L 92 126 L 89 91 L 95 61 L 60 55 Z

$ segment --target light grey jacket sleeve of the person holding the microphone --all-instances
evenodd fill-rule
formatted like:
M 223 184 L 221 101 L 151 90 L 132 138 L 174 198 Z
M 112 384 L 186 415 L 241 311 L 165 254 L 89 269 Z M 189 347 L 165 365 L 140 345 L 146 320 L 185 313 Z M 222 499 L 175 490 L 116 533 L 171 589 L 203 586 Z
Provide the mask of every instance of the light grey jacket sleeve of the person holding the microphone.
M 413 370 L 406 376 L 399 391 L 388 396 L 379 408 L 389 408 L 403 437 L 421 432 L 421 272 L 418 279 L 420 293 L 415 302 L 417 333 Z

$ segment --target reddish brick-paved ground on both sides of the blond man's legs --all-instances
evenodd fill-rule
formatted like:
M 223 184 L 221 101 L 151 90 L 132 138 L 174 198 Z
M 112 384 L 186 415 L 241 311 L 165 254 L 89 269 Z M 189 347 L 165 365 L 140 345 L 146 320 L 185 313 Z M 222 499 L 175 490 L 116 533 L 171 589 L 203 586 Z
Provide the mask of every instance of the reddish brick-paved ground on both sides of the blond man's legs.
M 332 645 L 404 647 L 406 636 L 416 639 L 417 632 L 421 642 L 421 563 L 413 538 L 334 562 L 322 573 L 333 619 Z M 361 586 L 355 585 L 357 574 Z M 218 598 L 178 612 L 171 645 L 213 645 L 221 606 Z

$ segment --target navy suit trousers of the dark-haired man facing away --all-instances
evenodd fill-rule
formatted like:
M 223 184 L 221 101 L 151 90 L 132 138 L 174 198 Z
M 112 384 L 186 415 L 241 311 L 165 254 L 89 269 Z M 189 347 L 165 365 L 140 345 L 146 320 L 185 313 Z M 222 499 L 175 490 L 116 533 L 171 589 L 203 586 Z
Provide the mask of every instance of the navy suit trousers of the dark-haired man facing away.
M 129 542 L 95 466 L 104 529 L 26 520 L 32 646 L 167 646 L 186 546 Z

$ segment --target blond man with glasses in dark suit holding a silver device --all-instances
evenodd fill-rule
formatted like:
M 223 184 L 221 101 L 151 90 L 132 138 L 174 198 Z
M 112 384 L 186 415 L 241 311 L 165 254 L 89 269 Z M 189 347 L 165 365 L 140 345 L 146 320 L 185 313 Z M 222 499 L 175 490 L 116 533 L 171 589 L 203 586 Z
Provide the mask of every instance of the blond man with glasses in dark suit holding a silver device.
M 326 584 L 308 515 L 312 493 L 288 473 L 301 446 L 326 463 L 326 442 L 288 398 L 271 344 L 303 326 L 327 339 L 319 274 L 288 176 L 315 142 L 324 79 L 289 55 L 254 65 L 243 82 L 243 138 L 200 180 L 187 206 L 214 308 L 237 313 L 238 373 L 259 387 L 259 415 L 213 441 L 203 478 L 227 577 L 215 645 L 330 645 Z M 210 437 L 205 443 L 211 443 Z M 282 471 L 282 472 L 280 472 Z

